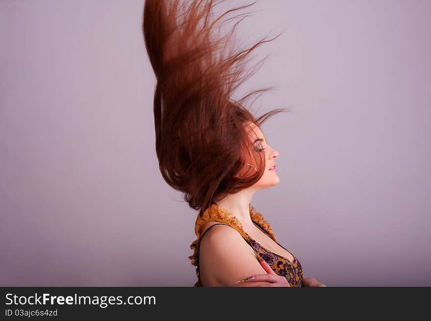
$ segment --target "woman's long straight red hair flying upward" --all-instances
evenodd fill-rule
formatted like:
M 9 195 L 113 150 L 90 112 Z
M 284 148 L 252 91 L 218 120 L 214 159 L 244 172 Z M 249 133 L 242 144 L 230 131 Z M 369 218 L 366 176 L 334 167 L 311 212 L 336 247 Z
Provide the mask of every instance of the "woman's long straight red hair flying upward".
M 271 87 L 232 98 L 236 88 L 257 71 L 244 73 L 250 53 L 281 33 L 245 49 L 235 48 L 235 27 L 246 15 L 228 17 L 255 2 L 213 19 L 213 8 L 221 2 L 146 0 L 142 21 L 157 79 L 153 107 L 159 168 L 169 186 L 183 193 L 199 214 L 216 196 L 237 193 L 263 175 L 264 153 L 253 147 L 245 125 L 251 122 L 260 127 L 269 116 L 290 111 L 278 108 L 255 117 L 245 107 L 251 97 Z M 236 19 L 232 30 L 219 36 L 216 31 L 220 32 L 221 25 Z M 249 159 L 258 171 L 251 168 L 251 175 L 235 177 Z

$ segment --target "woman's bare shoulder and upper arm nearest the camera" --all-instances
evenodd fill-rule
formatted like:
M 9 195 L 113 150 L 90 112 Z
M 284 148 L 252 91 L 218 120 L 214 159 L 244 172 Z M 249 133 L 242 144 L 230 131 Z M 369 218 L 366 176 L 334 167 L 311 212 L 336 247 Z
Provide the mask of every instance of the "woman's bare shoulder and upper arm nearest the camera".
M 218 222 L 209 222 L 203 233 Z M 203 286 L 259 286 L 269 282 L 236 281 L 252 275 L 265 274 L 251 246 L 237 230 L 218 224 L 201 238 L 199 248 L 199 273 Z

